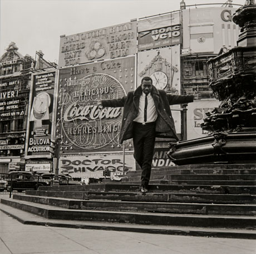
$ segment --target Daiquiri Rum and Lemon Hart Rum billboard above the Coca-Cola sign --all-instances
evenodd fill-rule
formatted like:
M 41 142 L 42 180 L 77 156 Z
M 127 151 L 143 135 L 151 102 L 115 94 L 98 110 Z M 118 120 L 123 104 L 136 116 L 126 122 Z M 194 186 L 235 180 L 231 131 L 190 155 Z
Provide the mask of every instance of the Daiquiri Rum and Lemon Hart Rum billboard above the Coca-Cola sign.
M 136 54 L 136 37 L 136 21 L 61 36 L 58 66 L 70 66 Z

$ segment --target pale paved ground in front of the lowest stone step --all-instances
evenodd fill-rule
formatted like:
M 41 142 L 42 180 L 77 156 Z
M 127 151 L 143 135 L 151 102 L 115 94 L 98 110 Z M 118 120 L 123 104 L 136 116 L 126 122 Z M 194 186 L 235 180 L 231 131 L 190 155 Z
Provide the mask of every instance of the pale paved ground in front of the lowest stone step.
M 255 254 L 256 240 L 23 224 L 0 211 L 0 254 Z

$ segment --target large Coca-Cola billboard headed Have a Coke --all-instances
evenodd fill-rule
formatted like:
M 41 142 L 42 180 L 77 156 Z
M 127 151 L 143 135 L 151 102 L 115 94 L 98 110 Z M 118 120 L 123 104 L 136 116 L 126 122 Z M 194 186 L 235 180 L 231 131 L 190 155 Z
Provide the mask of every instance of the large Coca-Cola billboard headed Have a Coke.
M 121 151 L 122 108 L 102 108 L 101 99 L 122 98 L 135 87 L 135 57 L 60 69 L 56 134 L 61 153 Z

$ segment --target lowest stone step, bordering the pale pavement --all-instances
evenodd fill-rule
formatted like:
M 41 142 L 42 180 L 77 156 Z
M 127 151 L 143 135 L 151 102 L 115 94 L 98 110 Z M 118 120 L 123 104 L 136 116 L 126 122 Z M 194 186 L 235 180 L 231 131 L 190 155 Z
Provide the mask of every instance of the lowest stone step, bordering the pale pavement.
M 90 230 L 114 230 L 126 232 L 154 233 L 164 235 L 185 235 L 185 236 L 204 236 L 204 237 L 229 237 L 256 239 L 255 230 L 245 230 L 237 228 L 205 228 L 188 226 L 159 226 L 159 225 L 139 225 L 115 222 L 97 221 L 72 221 L 72 220 L 53 220 L 46 219 L 29 212 L 15 209 L 11 206 L 0 203 L 0 210 L 26 225 L 51 226 L 80 228 Z

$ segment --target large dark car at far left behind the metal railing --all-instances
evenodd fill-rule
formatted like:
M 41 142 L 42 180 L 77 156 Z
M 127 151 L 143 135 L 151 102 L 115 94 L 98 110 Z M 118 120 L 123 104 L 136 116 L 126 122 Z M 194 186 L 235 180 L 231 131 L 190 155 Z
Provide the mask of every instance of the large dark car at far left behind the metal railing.
M 39 186 L 46 186 L 49 183 L 43 180 L 41 175 L 28 171 L 11 171 L 7 178 L 7 190 L 37 190 Z

